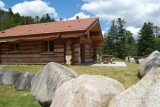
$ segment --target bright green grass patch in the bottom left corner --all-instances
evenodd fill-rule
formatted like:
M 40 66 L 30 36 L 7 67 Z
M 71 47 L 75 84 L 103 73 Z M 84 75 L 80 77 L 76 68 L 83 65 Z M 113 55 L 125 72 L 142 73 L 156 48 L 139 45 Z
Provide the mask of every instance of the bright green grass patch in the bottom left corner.
M 0 107 L 40 107 L 29 91 L 0 84 Z

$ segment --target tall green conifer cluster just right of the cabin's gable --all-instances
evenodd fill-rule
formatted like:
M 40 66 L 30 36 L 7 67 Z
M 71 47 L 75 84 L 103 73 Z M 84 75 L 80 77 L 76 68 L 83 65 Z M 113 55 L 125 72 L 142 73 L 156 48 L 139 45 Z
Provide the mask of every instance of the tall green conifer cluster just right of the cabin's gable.
M 112 21 L 112 26 L 105 34 L 106 54 L 112 54 L 118 58 L 136 54 L 136 45 L 133 34 L 124 28 L 125 21 L 118 18 Z

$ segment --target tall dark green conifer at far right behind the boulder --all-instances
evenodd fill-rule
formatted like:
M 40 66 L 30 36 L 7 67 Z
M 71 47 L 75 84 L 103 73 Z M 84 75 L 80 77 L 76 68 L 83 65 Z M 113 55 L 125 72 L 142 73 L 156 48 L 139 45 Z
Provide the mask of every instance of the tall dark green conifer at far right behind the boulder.
M 156 40 L 153 32 L 154 25 L 151 22 L 144 23 L 138 36 L 138 55 L 148 56 L 156 50 Z

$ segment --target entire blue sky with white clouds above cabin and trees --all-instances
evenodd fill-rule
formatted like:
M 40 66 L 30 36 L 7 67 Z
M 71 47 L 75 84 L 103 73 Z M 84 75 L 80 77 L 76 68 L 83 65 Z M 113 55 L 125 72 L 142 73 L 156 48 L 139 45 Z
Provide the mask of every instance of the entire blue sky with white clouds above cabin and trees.
M 14 13 L 32 17 L 48 13 L 56 20 L 99 17 L 103 32 L 112 20 L 122 18 L 134 38 L 144 22 L 160 26 L 160 0 L 0 0 L 0 8 L 12 8 Z

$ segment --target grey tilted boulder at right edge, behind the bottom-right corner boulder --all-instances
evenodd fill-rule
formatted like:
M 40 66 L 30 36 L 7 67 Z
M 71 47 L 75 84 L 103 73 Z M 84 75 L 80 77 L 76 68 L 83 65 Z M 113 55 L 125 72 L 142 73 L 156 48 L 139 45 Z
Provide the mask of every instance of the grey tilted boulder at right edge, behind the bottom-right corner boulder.
M 145 58 L 139 66 L 138 76 L 140 78 L 145 76 L 149 71 L 151 71 L 157 61 L 160 61 L 160 52 L 154 51 L 147 58 Z

